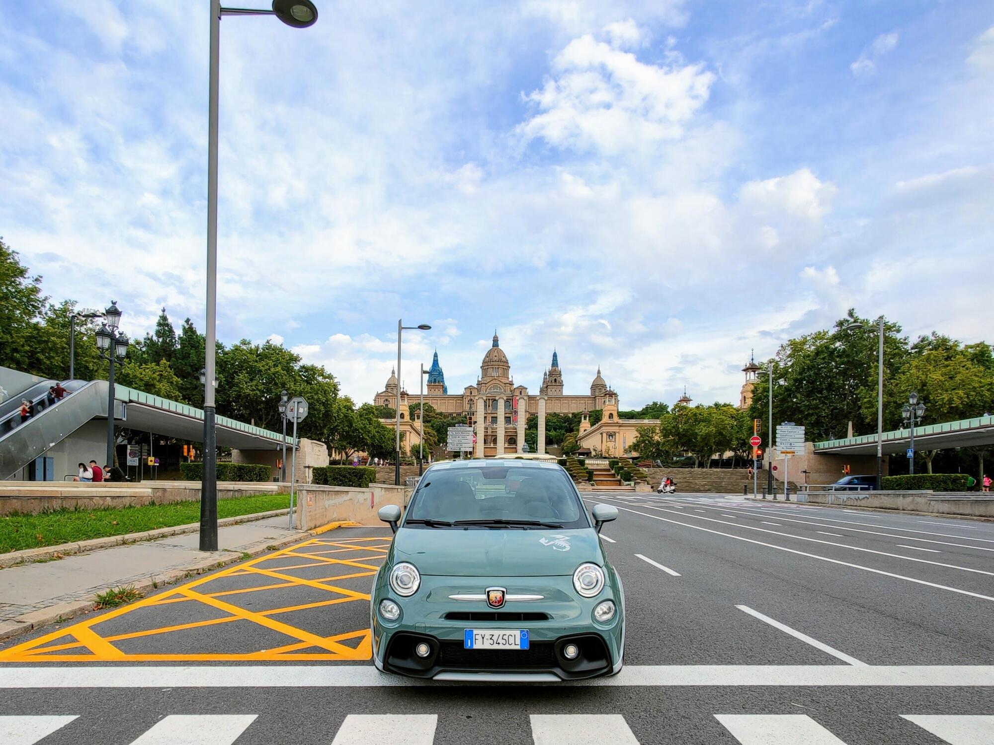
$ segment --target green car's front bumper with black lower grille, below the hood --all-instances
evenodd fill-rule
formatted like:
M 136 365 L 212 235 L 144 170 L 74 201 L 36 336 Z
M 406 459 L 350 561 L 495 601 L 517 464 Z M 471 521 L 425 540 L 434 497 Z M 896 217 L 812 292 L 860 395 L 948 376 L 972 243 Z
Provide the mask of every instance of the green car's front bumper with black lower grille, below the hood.
M 422 678 L 486 681 L 558 681 L 611 674 L 621 669 L 624 651 L 624 598 L 620 582 L 607 573 L 604 589 L 583 598 L 570 576 L 438 577 L 421 576 L 410 598 L 397 596 L 377 582 L 371 604 L 373 657 L 377 668 Z M 379 578 L 378 578 L 379 580 Z M 613 581 L 612 581 L 613 580 Z M 484 587 L 506 587 L 508 595 L 542 595 L 542 600 L 511 601 L 491 610 L 485 601 L 453 600 L 450 595 L 478 594 Z M 402 609 L 401 619 L 380 618 L 380 602 L 389 598 Z M 607 624 L 592 619 L 593 608 L 611 600 L 617 610 Z M 465 650 L 466 629 L 528 629 L 528 650 Z M 426 642 L 430 654 L 418 658 L 414 647 Z M 580 648 L 567 660 L 563 648 Z

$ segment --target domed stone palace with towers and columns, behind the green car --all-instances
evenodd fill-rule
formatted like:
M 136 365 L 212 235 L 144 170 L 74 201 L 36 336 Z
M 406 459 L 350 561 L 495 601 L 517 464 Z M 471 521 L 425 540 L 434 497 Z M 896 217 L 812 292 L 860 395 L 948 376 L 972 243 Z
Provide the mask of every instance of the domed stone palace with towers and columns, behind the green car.
M 399 386 L 394 371 L 384 389 L 376 394 L 374 402 L 396 407 Z M 539 419 L 537 451 L 545 453 L 547 413 L 569 414 L 593 409 L 606 411 L 607 407 L 613 407 L 615 413 L 612 419 L 617 417 L 617 393 L 604 382 L 599 368 L 590 382 L 588 395 L 569 395 L 563 392 L 563 388 L 563 371 L 560 369 L 559 354 L 555 350 L 552 365 L 543 373 L 537 394 L 529 392 L 527 386 L 515 383 L 511 376 L 511 363 L 500 348 L 500 340 L 495 331 L 493 343 L 480 363 L 476 384 L 466 385 L 461 393 L 448 392 L 445 375 L 438 364 L 438 353 L 435 352 L 427 375 L 424 403 L 430 404 L 438 412 L 466 417 L 476 432 L 476 448 L 473 453 L 476 457 L 523 452 L 525 424 L 528 416 L 534 414 Z M 401 390 L 400 393 L 404 416 L 405 407 L 416 403 L 418 394 L 415 391 L 409 396 L 407 390 Z M 394 424 L 386 420 L 384 423 L 388 426 Z M 410 438 L 406 439 L 412 441 Z

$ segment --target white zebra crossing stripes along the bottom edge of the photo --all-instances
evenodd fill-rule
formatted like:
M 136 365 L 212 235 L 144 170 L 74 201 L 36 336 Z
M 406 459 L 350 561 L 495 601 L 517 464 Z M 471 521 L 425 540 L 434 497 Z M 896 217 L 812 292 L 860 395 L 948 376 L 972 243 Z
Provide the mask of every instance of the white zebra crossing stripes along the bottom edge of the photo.
M 44 745 L 44 740 L 72 725 L 79 716 L 0 716 L 3 745 Z M 132 740 L 130 745 L 236 745 L 254 742 L 251 725 L 256 714 L 170 714 Z M 897 721 L 881 723 L 888 727 Z M 928 733 L 947 745 L 994 745 L 994 716 L 978 714 L 902 714 L 919 733 Z M 806 714 L 715 714 L 724 728 L 720 745 L 855 745 L 846 743 Z M 640 745 L 622 714 L 531 714 L 535 745 Z M 349 714 L 335 733 L 332 745 L 433 745 L 437 714 Z M 320 728 L 319 728 L 320 729 Z M 718 736 L 718 735 L 716 735 Z M 329 733 L 316 731 L 314 743 L 328 742 Z M 710 736 L 709 736 L 710 737 Z M 658 741 L 659 733 L 651 735 Z M 931 741 L 931 740 L 929 740 Z M 301 741 L 301 745 L 304 741 Z

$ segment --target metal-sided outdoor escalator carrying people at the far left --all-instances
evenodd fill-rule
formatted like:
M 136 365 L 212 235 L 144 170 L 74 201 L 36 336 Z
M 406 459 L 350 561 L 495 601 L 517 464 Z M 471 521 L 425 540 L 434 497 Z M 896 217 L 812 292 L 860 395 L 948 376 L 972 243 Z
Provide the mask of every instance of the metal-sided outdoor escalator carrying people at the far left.
M 35 403 L 35 415 L 23 424 L 17 409 L 0 415 L 0 481 L 15 476 L 38 456 L 69 437 L 90 419 L 107 414 L 106 380 L 69 380 L 61 401 L 49 404 L 45 381 L 17 396 L 17 405 L 27 398 Z M 29 397 L 41 390 L 40 395 Z

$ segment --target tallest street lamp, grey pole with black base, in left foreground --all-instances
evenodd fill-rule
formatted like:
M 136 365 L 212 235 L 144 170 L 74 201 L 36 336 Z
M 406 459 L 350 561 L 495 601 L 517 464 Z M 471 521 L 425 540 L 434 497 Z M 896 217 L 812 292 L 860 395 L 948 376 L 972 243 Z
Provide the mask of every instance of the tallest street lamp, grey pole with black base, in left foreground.
M 211 0 L 211 66 L 207 141 L 207 324 L 204 361 L 204 475 L 200 487 L 200 550 L 218 550 L 217 437 L 215 432 L 215 345 L 218 315 L 218 77 L 222 16 L 275 16 L 287 26 L 303 29 L 317 21 L 310 0 L 272 0 L 272 10 L 222 8 Z M 212 384 L 206 382 L 210 380 Z

